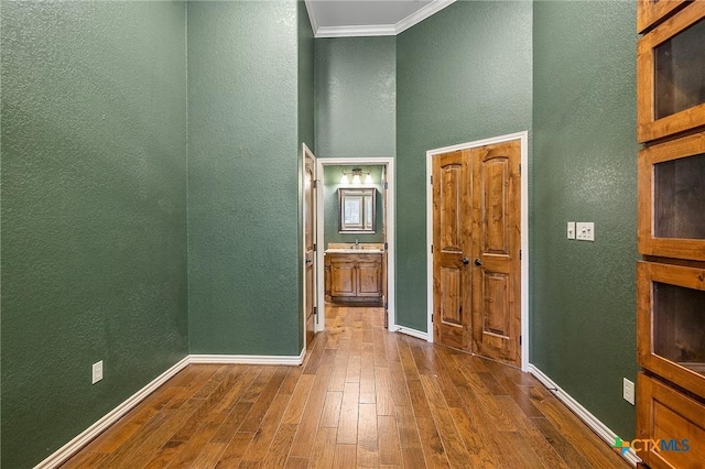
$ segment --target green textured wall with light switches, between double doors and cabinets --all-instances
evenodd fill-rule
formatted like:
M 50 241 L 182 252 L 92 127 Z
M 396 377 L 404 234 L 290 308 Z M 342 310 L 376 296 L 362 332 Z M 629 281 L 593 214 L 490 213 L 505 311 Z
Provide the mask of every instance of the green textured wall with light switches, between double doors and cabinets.
M 534 3 L 531 361 L 622 438 L 636 378 L 636 2 Z M 566 221 L 594 221 L 595 242 Z

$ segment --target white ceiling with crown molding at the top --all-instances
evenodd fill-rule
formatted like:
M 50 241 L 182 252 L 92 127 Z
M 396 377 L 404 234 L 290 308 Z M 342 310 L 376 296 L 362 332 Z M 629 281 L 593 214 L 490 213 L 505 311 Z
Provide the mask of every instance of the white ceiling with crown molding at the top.
M 455 0 L 306 0 L 316 37 L 395 35 Z

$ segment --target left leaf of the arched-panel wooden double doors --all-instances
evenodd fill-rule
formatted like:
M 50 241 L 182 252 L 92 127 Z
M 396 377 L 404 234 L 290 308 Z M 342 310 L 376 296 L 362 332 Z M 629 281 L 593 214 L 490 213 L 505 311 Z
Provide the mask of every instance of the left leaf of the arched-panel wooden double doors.
M 470 151 L 433 157 L 433 339 L 470 350 Z

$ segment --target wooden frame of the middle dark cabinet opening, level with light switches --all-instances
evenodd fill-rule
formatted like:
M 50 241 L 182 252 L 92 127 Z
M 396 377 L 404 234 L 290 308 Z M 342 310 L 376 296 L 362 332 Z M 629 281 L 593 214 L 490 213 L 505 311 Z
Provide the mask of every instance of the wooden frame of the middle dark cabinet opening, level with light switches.
M 641 254 L 705 261 L 705 239 L 657 238 L 654 236 L 654 165 L 698 154 L 705 154 L 705 132 L 652 145 L 639 152 L 638 238 Z M 705 211 L 705 207 L 703 207 L 703 211 Z

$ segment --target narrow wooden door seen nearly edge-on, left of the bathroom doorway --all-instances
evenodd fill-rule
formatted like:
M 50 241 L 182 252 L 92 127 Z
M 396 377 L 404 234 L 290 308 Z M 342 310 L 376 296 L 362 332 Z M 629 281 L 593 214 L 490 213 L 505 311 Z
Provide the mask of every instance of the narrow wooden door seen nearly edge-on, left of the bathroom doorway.
M 316 334 L 316 164 L 313 155 L 305 152 L 304 164 L 304 247 L 305 247 L 305 316 L 306 348 Z

